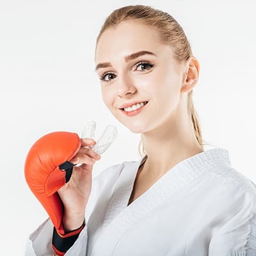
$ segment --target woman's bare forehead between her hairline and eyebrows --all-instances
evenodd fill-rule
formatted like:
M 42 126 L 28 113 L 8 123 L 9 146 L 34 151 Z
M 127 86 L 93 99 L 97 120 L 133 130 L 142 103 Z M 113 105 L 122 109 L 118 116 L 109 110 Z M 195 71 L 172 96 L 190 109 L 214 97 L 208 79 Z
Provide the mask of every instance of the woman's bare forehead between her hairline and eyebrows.
M 151 51 L 157 54 L 166 47 L 155 28 L 134 21 L 121 22 L 100 36 L 95 50 L 95 63 L 114 61 L 132 52 Z

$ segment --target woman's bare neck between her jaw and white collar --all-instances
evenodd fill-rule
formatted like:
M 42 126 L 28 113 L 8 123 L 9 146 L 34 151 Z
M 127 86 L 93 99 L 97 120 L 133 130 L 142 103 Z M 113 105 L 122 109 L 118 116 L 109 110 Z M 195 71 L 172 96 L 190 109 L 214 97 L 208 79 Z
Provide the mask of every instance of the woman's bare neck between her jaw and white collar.
M 204 151 L 196 140 L 191 120 L 184 120 L 183 124 L 164 124 L 143 133 L 142 140 L 147 160 L 141 166 L 141 174 L 152 179 L 161 177 L 180 161 Z

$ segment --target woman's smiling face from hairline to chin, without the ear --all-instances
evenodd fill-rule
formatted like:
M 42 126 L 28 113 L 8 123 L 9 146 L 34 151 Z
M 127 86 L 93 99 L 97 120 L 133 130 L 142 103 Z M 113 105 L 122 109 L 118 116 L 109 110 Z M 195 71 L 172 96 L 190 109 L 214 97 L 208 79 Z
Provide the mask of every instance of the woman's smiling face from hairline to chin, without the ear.
M 130 131 L 143 133 L 172 122 L 179 106 L 184 70 L 157 31 L 125 21 L 100 37 L 95 51 L 102 99 Z M 124 109 L 124 104 L 135 106 Z

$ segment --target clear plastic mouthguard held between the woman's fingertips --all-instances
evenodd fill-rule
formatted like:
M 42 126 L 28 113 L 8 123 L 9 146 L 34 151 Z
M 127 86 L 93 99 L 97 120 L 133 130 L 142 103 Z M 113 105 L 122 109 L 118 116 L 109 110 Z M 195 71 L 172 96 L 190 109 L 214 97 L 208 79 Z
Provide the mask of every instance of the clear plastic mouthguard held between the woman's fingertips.
M 83 129 L 81 138 L 91 138 L 95 140 L 95 129 L 96 123 L 94 121 L 88 122 Z M 92 150 L 97 152 L 98 154 L 104 153 L 109 146 L 113 143 L 117 136 L 117 130 L 115 125 L 107 125 L 105 130 L 102 132 L 97 144 L 95 146 L 90 146 Z

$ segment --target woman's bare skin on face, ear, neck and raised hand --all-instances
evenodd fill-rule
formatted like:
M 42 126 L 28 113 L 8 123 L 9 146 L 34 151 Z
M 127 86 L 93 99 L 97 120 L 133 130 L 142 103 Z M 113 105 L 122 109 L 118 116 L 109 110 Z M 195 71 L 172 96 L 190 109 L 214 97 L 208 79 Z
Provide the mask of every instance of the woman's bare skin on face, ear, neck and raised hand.
M 138 51 L 150 51 L 125 60 Z M 140 61 L 147 61 L 142 64 Z M 173 58 L 173 48 L 159 40 L 156 29 L 134 21 L 109 28 L 95 49 L 95 64 L 111 67 L 97 69 L 102 99 L 115 118 L 131 132 L 141 133 L 147 161 L 138 170 L 132 200 L 144 193 L 164 173 L 183 159 L 202 152 L 187 111 L 188 92 L 198 81 L 199 63 L 195 57 L 180 65 Z M 137 64 L 137 65 L 136 65 Z M 151 65 L 154 65 L 153 67 Z M 108 75 L 105 76 L 106 72 Z M 131 100 L 148 101 L 136 116 L 126 116 L 120 105 Z M 80 227 L 92 188 L 92 170 L 100 155 L 88 148 L 93 140 L 81 139 L 82 146 L 70 161 L 75 166 L 70 181 L 59 191 L 64 205 L 66 231 Z

